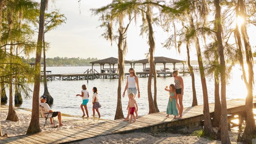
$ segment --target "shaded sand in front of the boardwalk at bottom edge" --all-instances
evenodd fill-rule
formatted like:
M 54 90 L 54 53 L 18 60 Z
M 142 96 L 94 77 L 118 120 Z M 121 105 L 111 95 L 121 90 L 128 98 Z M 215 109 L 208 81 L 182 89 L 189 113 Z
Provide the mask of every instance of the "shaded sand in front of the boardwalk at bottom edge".
M 230 133 L 231 143 L 236 144 Z M 88 138 L 72 144 L 221 144 L 221 141 L 173 133 L 127 133 Z

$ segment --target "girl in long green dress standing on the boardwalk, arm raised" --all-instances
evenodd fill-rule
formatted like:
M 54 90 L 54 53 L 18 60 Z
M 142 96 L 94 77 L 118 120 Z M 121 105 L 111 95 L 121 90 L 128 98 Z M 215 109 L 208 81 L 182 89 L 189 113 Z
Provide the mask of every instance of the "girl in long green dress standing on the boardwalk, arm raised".
M 176 106 L 177 94 L 175 91 L 175 86 L 171 84 L 169 89 L 168 89 L 168 86 L 166 86 L 165 90 L 169 92 L 169 102 L 166 109 L 166 114 L 167 114 L 166 118 L 169 117 L 169 115 L 174 115 L 174 118 L 176 118 L 179 112 Z

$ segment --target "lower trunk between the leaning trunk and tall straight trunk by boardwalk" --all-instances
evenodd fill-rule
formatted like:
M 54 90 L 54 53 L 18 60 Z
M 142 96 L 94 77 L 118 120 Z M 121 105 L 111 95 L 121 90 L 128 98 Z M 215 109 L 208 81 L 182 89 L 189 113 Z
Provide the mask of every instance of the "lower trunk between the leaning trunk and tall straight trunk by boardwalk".
M 212 118 L 212 126 L 219 127 L 221 121 L 221 101 L 220 101 L 220 85 L 218 71 L 214 72 L 214 115 Z

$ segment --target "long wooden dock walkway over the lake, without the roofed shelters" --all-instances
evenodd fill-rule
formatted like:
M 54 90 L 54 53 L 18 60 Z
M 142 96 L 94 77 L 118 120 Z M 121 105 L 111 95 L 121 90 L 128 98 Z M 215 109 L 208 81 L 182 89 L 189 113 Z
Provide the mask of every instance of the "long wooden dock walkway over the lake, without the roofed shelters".
M 180 72 L 181 74 L 189 74 L 189 72 Z M 125 73 L 128 76 L 130 73 Z M 149 72 L 137 72 L 138 77 L 148 77 Z M 172 72 L 157 72 L 158 77 L 171 77 Z M 44 75 L 41 74 L 41 80 Z M 47 80 L 89 80 L 89 79 L 118 79 L 118 73 L 61 73 L 47 74 Z

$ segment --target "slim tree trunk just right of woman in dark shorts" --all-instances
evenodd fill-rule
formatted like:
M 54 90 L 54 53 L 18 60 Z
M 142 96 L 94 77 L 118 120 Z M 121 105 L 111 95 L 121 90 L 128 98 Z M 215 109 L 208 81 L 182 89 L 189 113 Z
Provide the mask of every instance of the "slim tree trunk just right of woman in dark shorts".
M 195 75 L 193 67 L 190 65 L 190 55 L 189 55 L 189 42 L 186 42 L 187 56 L 188 56 L 188 65 L 189 65 L 189 73 L 191 74 L 192 79 L 192 91 L 193 91 L 193 102 L 192 107 L 198 105 L 195 91 Z

